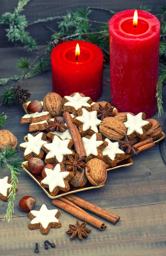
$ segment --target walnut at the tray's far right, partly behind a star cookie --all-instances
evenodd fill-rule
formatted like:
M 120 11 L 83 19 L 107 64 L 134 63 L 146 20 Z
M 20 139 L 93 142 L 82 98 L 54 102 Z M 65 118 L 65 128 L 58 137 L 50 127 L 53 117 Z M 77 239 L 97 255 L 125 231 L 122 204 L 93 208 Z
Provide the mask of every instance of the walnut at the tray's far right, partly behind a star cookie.
M 152 138 L 153 140 L 157 139 L 162 132 L 160 123 L 155 119 L 146 119 L 146 121 L 152 122 L 152 127 L 145 132 L 146 139 L 148 138 Z

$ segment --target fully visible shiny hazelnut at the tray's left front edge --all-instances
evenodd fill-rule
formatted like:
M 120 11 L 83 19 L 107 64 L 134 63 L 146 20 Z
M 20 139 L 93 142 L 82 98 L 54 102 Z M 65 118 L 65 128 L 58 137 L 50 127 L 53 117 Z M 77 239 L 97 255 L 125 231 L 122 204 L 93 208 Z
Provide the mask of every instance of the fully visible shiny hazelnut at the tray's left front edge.
M 44 166 L 44 162 L 37 157 L 32 157 L 28 160 L 28 170 L 33 174 L 41 173 Z

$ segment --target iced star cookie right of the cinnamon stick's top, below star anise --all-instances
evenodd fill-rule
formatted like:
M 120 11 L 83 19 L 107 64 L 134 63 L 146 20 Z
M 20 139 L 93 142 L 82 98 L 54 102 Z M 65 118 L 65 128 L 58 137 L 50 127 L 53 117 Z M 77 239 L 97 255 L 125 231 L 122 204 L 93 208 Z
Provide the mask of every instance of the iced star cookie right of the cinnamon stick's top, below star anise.
M 98 126 L 101 120 L 97 118 L 97 111 L 87 111 L 85 108 L 78 109 L 78 116 L 73 117 L 72 121 L 79 127 L 79 132 L 82 136 L 89 134 L 92 136 L 98 133 Z

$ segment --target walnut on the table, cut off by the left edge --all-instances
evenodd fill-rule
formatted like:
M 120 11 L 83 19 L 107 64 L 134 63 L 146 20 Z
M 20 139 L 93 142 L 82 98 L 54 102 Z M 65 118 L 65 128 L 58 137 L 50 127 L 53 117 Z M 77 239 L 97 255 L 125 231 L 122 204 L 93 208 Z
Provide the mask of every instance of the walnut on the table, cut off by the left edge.
M 17 138 L 8 130 L 0 130 L 0 150 L 4 147 L 17 148 Z

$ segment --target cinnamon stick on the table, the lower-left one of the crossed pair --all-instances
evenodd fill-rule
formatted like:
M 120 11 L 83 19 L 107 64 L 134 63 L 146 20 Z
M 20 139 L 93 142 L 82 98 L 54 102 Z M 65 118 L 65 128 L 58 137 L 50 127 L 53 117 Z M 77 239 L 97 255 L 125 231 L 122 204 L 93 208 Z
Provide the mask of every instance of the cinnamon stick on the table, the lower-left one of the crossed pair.
M 97 227 L 99 230 L 105 230 L 107 227 L 102 221 L 94 218 L 88 213 L 83 214 L 83 212 L 80 209 L 76 209 L 75 207 L 72 207 L 63 201 L 60 201 L 59 199 L 53 199 L 52 204 L 70 213 L 76 218 L 79 218 L 80 220 L 85 221 L 94 227 Z

